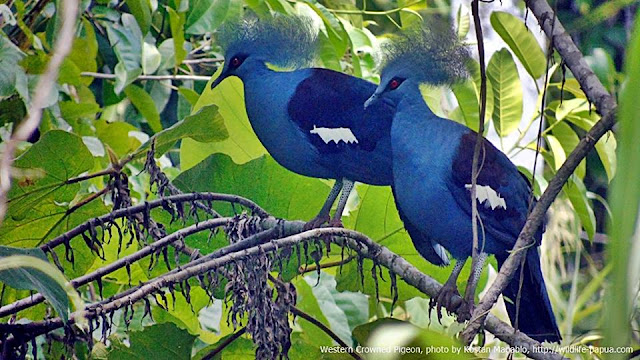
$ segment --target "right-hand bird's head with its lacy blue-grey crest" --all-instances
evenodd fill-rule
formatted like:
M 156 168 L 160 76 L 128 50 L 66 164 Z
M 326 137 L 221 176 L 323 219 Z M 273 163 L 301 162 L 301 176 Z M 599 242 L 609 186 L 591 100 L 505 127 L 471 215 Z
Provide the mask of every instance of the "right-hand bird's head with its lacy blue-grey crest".
M 451 28 L 439 22 L 415 25 L 383 44 L 380 85 L 365 103 L 397 106 L 419 85 L 452 84 L 467 76 L 469 54 Z

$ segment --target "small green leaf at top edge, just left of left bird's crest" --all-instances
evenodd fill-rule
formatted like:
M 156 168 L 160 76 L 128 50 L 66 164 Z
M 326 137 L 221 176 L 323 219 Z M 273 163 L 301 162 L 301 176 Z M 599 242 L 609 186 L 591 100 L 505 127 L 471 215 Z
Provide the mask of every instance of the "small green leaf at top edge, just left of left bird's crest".
M 230 0 L 195 0 L 189 4 L 186 33 L 201 35 L 215 30 L 227 17 Z

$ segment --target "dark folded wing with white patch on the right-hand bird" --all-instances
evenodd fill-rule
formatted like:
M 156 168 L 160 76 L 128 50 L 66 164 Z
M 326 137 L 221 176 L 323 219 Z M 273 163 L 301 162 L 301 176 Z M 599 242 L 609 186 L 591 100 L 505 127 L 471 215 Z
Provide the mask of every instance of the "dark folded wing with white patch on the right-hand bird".
M 458 205 L 471 217 L 471 166 L 477 133 L 469 131 L 460 143 L 451 165 L 452 181 L 448 183 Z M 496 239 L 513 245 L 524 226 L 532 199 L 527 179 L 507 156 L 482 138 L 481 166 L 476 185 L 476 199 L 481 226 Z M 535 201 L 535 200 L 534 200 Z M 542 232 L 538 231 L 539 241 Z

